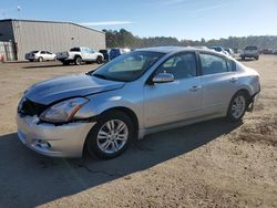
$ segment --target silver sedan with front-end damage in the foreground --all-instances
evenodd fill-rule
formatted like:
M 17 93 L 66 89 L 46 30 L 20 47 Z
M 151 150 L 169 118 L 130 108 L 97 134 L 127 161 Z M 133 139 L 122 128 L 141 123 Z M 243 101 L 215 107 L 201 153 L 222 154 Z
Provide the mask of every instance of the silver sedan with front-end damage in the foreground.
M 18 135 L 48 156 L 79 157 L 86 149 L 112 158 L 150 133 L 224 116 L 237 122 L 259 91 L 256 71 L 212 50 L 140 49 L 94 72 L 28 89 Z

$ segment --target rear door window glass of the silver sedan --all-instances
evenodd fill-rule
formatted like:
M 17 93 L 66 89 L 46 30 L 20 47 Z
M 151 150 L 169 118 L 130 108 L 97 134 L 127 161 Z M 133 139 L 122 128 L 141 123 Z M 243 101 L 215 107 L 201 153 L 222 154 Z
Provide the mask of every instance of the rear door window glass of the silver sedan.
M 199 58 L 203 75 L 228 72 L 227 61 L 224 58 L 204 53 L 201 53 Z

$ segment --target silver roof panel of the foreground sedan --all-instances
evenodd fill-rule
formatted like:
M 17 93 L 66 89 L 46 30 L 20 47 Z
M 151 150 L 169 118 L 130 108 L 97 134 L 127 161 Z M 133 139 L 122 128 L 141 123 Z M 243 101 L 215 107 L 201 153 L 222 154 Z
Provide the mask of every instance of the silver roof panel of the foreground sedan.
M 172 53 L 172 52 L 182 52 L 182 51 L 214 52 L 214 50 L 202 48 L 202 46 L 154 46 L 154 48 L 136 49 L 135 51 L 152 51 L 152 52 L 160 52 L 160 53 Z

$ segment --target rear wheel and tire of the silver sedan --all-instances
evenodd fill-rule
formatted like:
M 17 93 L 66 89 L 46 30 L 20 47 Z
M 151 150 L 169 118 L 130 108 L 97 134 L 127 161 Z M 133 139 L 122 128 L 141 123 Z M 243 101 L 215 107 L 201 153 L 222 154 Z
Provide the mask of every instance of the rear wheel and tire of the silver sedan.
M 244 114 L 245 114 L 247 106 L 248 106 L 248 102 L 249 102 L 249 98 L 245 92 L 243 92 L 243 91 L 237 92 L 233 96 L 233 98 L 229 103 L 229 107 L 228 107 L 228 112 L 227 112 L 226 117 L 230 122 L 239 122 L 244 117 Z

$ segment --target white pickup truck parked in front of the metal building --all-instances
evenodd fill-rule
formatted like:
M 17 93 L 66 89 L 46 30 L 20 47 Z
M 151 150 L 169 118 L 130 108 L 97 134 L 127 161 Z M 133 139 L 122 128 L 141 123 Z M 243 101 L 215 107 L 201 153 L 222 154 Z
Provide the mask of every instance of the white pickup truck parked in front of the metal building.
M 82 62 L 96 62 L 98 64 L 101 64 L 103 63 L 104 56 L 102 53 L 96 52 L 93 49 L 80 46 L 72 48 L 70 51 L 57 53 L 57 60 L 62 62 L 64 65 L 68 65 L 70 63 L 80 65 Z

